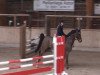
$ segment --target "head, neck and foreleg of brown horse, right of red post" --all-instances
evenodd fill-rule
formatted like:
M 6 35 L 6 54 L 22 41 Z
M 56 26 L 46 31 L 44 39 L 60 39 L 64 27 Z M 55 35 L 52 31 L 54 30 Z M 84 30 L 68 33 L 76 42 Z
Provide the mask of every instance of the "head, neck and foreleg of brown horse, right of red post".
M 81 37 L 81 30 L 80 29 L 74 29 L 71 30 L 66 36 L 65 36 L 65 66 L 68 69 L 69 68 L 69 63 L 68 63 L 68 58 L 69 54 L 72 51 L 73 45 L 75 40 L 78 40 L 79 43 L 82 42 L 82 37 Z

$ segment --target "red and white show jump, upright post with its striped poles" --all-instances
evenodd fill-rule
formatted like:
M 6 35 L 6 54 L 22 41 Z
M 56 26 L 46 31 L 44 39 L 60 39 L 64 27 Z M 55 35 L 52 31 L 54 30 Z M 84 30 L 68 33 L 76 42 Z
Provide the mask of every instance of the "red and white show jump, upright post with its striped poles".
M 54 68 L 54 73 L 53 74 L 48 74 L 48 75 L 68 75 L 65 71 L 64 71 L 64 49 L 65 49 L 65 37 L 64 36 L 54 36 L 53 38 L 53 44 L 54 44 L 54 67 L 44 67 L 44 68 L 37 68 L 37 69 L 33 69 L 33 70 L 27 70 L 27 71 L 20 71 L 20 72 L 14 72 L 14 73 L 8 73 L 8 74 L 2 74 L 2 75 L 28 75 L 28 74 L 35 74 L 35 73 L 41 73 L 41 72 L 47 72 L 47 71 L 51 71 Z M 53 55 L 49 55 L 49 57 L 52 57 Z M 39 57 L 41 58 L 41 57 Z M 48 58 L 48 56 L 46 56 L 45 58 Z M 9 64 L 12 62 L 25 62 L 25 61 L 29 61 L 29 60 L 33 60 L 33 58 L 29 58 L 27 60 L 17 60 L 17 61 L 10 61 L 10 62 L 2 62 L 1 64 Z M 52 61 L 53 62 L 53 61 Z M 51 63 L 50 62 L 44 62 L 45 64 L 47 63 Z M 37 65 L 39 64 L 44 64 L 44 63 L 37 63 Z M 29 64 L 29 65 L 23 65 L 22 67 L 28 67 L 28 66 L 32 66 L 33 64 Z M 16 69 L 16 68 L 20 68 L 20 66 L 17 67 L 11 67 L 11 68 L 4 68 L 4 69 Z M 2 70 L 2 69 L 1 69 Z

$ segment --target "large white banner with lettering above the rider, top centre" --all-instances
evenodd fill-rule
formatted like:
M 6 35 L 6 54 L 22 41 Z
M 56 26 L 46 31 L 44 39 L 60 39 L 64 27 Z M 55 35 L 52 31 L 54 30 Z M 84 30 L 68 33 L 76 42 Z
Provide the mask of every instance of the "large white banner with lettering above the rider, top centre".
M 34 11 L 74 11 L 75 0 L 34 0 Z

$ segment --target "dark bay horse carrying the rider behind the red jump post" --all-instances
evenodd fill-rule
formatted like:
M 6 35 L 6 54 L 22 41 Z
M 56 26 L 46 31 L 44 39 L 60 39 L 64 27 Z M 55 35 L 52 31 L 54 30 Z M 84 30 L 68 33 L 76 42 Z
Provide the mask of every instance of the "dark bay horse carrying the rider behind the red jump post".
M 65 64 L 68 65 L 68 57 L 70 52 L 72 51 L 72 47 L 75 40 L 82 42 L 81 30 L 80 29 L 71 30 L 67 35 L 65 35 L 65 40 L 66 40 L 65 41 Z M 53 49 L 52 41 L 53 38 L 50 36 L 45 36 L 43 38 L 41 45 L 37 49 L 40 56 L 42 56 L 46 52 L 46 50 L 48 50 L 48 48 Z

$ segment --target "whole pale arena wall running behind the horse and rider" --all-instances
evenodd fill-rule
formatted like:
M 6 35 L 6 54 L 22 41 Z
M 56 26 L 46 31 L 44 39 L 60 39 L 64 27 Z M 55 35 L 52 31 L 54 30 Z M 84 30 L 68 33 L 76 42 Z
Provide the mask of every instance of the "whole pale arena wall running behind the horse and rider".
M 64 29 L 67 34 L 72 29 Z M 29 29 L 27 29 L 27 39 L 29 39 Z M 31 38 L 36 38 L 40 33 L 44 33 L 43 28 L 33 28 Z M 51 35 L 56 33 L 55 29 L 51 29 Z M 78 50 L 92 50 L 92 48 L 100 51 L 100 30 L 83 29 L 82 43 L 75 41 L 74 48 Z M 15 27 L 0 27 L 0 46 L 18 46 L 20 42 L 19 28 Z

